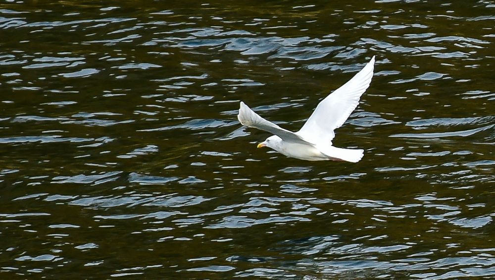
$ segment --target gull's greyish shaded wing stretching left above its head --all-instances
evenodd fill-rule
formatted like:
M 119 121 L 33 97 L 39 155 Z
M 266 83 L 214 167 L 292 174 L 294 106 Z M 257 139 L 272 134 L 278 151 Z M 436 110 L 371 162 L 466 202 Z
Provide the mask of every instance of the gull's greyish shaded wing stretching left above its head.
M 242 124 L 249 127 L 254 127 L 257 129 L 268 131 L 282 138 L 282 140 L 284 140 L 285 142 L 311 145 L 311 143 L 304 141 L 304 139 L 301 136 L 297 135 L 296 133 L 289 131 L 287 129 L 283 129 L 282 127 L 276 125 L 275 123 L 260 117 L 257 113 L 255 113 L 249 107 L 247 107 L 247 105 L 242 101 L 241 101 L 241 108 L 239 108 L 239 114 L 237 115 L 237 118 Z

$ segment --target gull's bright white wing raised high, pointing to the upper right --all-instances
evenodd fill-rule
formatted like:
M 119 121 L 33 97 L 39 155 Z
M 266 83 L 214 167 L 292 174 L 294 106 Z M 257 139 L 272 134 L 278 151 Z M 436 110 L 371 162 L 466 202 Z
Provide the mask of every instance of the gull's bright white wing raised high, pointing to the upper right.
M 375 56 L 352 79 L 323 99 L 296 133 L 312 143 L 331 145 L 334 129 L 344 124 L 369 87 L 374 63 Z

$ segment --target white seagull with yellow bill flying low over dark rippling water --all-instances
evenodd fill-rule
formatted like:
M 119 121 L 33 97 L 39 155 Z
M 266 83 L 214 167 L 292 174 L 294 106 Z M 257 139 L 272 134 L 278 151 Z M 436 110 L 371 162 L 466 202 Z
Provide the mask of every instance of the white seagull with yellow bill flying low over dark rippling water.
M 259 143 L 258 148 L 268 147 L 287 157 L 306 161 L 357 163 L 363 157 L 363 150 L 334 147 L 332 140 L 334 130 L 344 124 L 369 87 L 374 64 L 375 56 L 352 79 L 325 97 L 297 132 L 262 118 L 242 101 L 237 118 L 243 125 L 274 134 Z

